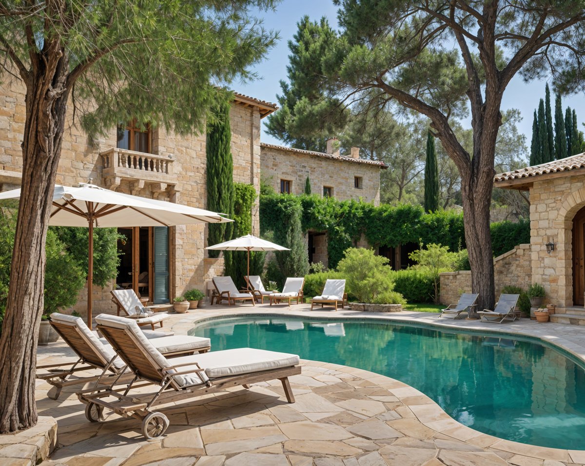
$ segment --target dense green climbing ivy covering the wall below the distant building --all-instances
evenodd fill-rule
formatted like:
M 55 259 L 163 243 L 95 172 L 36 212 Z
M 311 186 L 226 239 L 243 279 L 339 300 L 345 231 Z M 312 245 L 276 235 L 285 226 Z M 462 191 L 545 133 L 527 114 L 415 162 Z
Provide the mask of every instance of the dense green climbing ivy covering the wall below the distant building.
M 297 206 L 302 210 L 299 212 Z M 317 195 L 261 195 L 260 232 L 273 231 L 281 236 L 291 215 L 301 216 L 302 232 L 309 230 L 328 233 L 329 267 L 333 268 L 343 257 L 343 251 L 355 246 L 364 234 L 373 246 L 396 247 L 399 244 L 442 244 L 449 250 L 465 248 L 463 214 L 454 210 L 425 213 L 421 206 L 383 204 L 374 206 L 357 201 L 336 201 Z M 503 225 L 501 225 L 503 223 Z M 494 251 L 513 248 L 514 237 L 529 242 L 529 222 L 514 224 L 500 222 L 492 232 Z M 513 232 L 513 233 L 512 233 Z M 528 241 L 526 241 L 528 236 Z

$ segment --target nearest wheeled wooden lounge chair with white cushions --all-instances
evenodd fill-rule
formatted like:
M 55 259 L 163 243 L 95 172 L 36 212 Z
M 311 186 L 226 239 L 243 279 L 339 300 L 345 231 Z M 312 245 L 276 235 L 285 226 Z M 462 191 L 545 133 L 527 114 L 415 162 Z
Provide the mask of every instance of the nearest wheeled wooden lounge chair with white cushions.
M 159 390 L 133 392 L 132 381 L 125 392 L 105 389 L 80 392 L 85 415 L 96 422 L 108 408 L 124 417 L 142 420 L 142 434 L 155 439 L 164 434 L 168 419 L 154 409 L 158 405 L 184 402 L 195 396 L 207 395 L 226 388 L 279 379 L 288 402 L 294 395 L 288 382 L 291 375 L 301 374 L 298 355 L 274 351 L 239 348 L 167 360 L 144 338 L 135 322 L 101 314 L 95 317 L 98 330 L 111 343 L 116 354 L 128 364 L 136 379 L 158 385 Z

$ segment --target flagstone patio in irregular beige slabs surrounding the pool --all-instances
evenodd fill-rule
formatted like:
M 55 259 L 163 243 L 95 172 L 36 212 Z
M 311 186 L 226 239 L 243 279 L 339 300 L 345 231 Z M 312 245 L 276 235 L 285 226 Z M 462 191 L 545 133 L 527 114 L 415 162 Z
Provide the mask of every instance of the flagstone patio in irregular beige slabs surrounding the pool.
M 541 337 L 585 359 L 585 329 L 528 319 L 504 325 L 453 321 L 416 312 L 309 311 L 310 306 L 208 306 L 174 315 L 166 327 L 186 333 L 194 322 L 246 314 L 388 319 L 471 327 Z M 39 364 L 73 353 L 63 344 L 39 348 Z M 104 423 L 85 419 L 74 388 L 59 401 L 37 384 L 39 415 L 59 424 L 59 449 L 45 466 L 192 465 L 506 465 L 556 466 L 585 463 L 585 451 L 535 447 L 477 432 L 449 417 L 416 389 L 382 375 L 336 364 L 302 361 L 291 378 L 296 403 L 288 404 L 279 381 L 251 389 L 173 403 L 161 409 L 171 424 L 162 440 L 146 441 L 140 422 L 112 415 Z M 16 463 L 15 463 L 16 464 Z M 18 463 L 25 464 L 25 463 Z

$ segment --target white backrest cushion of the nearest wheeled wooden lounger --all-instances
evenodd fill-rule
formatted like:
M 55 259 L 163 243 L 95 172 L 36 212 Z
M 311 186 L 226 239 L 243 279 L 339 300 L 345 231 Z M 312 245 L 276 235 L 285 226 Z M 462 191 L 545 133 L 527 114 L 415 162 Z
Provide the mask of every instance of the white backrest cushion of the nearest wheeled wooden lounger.
M 142 333 L 140 327 L 134 320 L 126 319 L 125 317 L 111 316 L 108 314 L 99 314 L 98 316 L 95 317 L 95 322 L 97 322 L 99 325 L 113 327 L 115 329 L 123 329 L 127 333 L 133 334 L 135 339 L 138 340 L 139 344 L 141 345 L 141 348 L 144 351 L 144 353 L 150 355 L 150 357 L 154 361 L 154 364 L 158 366 L 157 368 L 160 371 L 162 371 L 166 367 L 171 367 L 174 364 L 178 364 L 176 360 L 170 362 L 169 360 L 167 360 L 166 357 L 160 354 L 160 351 L 157 350 L 157 348 L 153 346 L 150 340 L 144 336 L 144 333 Z M 177 371 L 170 370 L 168 373 L 172 375 L 174 374 L 174 372 Z M 207 377 L 205 376 L 205 374 L 202 374 L 201 378 L 199 378 L 197 374 L 173 375 L 173 379 L 176 382 L 176 384 L 180 386 L 197 385 L 207 381 Z

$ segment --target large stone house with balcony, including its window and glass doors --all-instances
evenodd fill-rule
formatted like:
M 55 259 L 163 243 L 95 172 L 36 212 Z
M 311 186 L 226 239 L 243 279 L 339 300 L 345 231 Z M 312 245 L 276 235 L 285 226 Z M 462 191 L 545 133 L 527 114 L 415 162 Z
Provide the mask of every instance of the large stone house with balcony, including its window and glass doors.
M 235 94 L 230 109 L 233 180 L 260 190 L 260 119 L 277 106 Z M 19 81 L 0 91 L 0 191 L 20 186 L 25 122 L 25 88 Z M 91 139 L 73 120 L 70 105 L 65 125 L 57 183 L 95 184 L 127 194 L 206 208 L 205 134 L 178 136 L 163 128 L 138 127 L 134 122 L 112 127 L 105 137 Z M 259 233 L 259 212 L 253 209 L 253 233 Z M 126 240 L 118 278 L 150 301 L 167 302 L 191 288 L 205 289 L 222 268 L 206 257 L 205 225 L 119 229 Z M 221 272 L 221 270 L 220 270 Z M 94 309 L 112 308 L 109 289 L 94 287 Z M 87 291 L 76 310 L 85 312 Z

